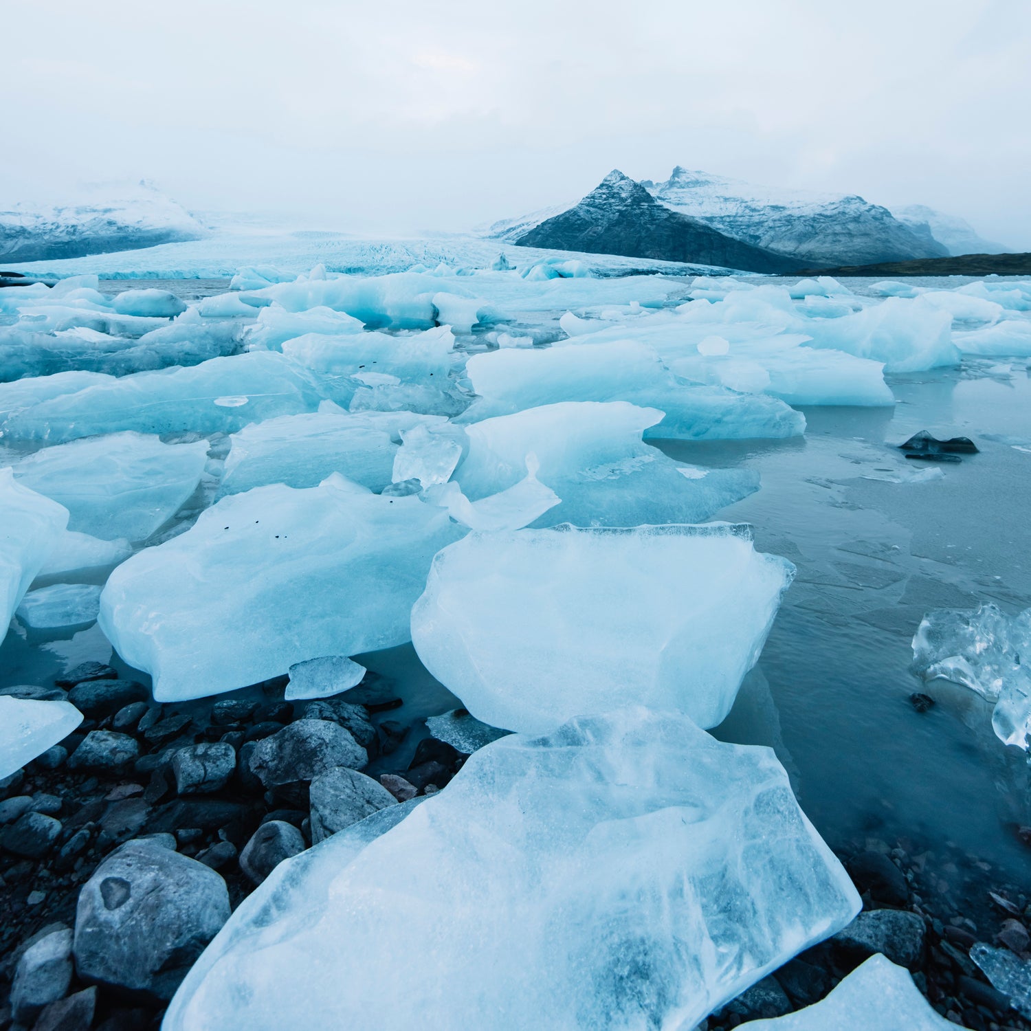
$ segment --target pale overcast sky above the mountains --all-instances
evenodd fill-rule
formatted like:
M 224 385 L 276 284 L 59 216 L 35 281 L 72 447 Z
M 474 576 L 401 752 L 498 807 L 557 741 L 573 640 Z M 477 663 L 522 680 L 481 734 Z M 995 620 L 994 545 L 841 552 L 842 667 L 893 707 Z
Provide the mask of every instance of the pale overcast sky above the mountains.
M 681 164 L 1031 250 L 1028 0 L 0 2 L 0 207 L 461 230 Z

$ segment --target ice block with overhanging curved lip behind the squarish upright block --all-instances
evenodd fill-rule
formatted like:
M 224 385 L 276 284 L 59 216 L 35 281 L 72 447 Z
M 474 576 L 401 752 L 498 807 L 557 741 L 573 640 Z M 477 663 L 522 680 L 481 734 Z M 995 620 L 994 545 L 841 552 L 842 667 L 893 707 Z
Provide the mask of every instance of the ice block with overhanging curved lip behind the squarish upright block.
M 526 456 L 535 456 L 538 478 L 562 499 L 537 527 L 697 523 L 758 490 L 747 469 L 685 476 L 641 439 L 662 418 L 626 401 L 567 401 L 486 419 L 466 427 L 455 479 L 469 498 L 484 498 L 522 478 Z

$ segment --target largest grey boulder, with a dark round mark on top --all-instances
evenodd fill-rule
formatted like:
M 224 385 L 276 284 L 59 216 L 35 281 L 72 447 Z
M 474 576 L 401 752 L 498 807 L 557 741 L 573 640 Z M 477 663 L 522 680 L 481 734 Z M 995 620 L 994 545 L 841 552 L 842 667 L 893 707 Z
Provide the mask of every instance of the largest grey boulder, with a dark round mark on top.
M 85 980 L 167 1001 L 228 919 L 226 883 L 212 869 L 130 841 L 82 887 L 75 968 Z

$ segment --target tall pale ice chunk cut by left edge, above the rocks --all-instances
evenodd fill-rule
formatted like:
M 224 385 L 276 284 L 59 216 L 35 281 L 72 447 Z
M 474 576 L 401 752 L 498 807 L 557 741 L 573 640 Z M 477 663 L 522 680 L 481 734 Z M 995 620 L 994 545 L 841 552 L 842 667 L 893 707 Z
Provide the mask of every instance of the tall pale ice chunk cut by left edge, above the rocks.
M 68 509 L 0 469 L 0 641 L 14 609 L 68 526 Z

